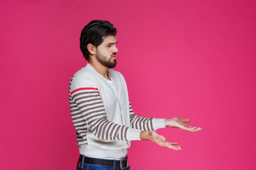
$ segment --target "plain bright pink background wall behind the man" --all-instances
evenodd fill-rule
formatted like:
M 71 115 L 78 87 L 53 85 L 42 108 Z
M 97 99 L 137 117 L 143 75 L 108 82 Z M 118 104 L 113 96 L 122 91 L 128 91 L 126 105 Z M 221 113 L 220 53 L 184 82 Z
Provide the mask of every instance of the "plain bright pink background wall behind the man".
M 86 64 L 79 36 L 91 20 L 118 30 L 115 69 L 137 115 L 204 128 L 157 130 L 180 151 L 133 141 L 132 170 L 255 169 L 255 9 L 254 0 L 1 1 L 0 169 L 75 169 L 68 84 Z

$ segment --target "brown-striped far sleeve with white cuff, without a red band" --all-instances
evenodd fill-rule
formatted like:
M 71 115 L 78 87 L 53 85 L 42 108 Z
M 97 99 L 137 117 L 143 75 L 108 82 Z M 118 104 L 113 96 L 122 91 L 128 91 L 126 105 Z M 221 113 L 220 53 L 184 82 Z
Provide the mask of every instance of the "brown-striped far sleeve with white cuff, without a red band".
M 129 109 L 130 109 L 130 124 L 132 128 L 145 130 L 145 131 L 165 128 L 165 124 L 164 124 L 165 119 L 156 119 L 156 118 L 137 116 L 133 112 L 130 102 L 129 102 Z

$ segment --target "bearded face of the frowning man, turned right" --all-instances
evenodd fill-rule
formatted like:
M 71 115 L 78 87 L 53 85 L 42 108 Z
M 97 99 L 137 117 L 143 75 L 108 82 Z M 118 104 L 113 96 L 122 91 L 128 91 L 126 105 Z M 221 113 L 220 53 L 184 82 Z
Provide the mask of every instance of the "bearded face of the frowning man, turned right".
M 114 68 L 117 65 L 117 39 L 114 36 L 108 36 L 96 49 L 96 58 L 103 65 L 108 68 Z

